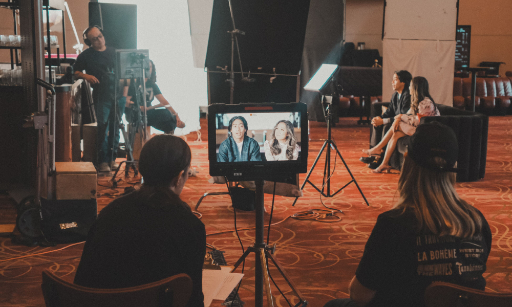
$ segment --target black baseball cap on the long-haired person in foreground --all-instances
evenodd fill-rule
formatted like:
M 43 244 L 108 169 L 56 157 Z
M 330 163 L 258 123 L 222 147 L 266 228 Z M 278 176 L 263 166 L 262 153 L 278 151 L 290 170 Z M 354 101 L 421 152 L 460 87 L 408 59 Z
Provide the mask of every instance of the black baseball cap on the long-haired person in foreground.
M 439 172 L 458 172 L 454 168 L 459 156 L 459 143 L 454 131 L 449 126 L 439 122 L 421 124 L 411 136 L 407 155 L 417 164 Z M 446 161 L 439 165 L 434 158 Z

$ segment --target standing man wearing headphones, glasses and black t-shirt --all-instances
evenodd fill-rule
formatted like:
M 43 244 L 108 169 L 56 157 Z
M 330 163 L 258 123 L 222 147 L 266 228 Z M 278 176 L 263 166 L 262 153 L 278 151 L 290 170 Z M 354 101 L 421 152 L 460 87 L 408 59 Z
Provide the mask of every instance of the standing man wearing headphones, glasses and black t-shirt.
M 94 110 L 97 118 L 97 163 L 99 171 L 117 168 L 115 163 L 119 144 L 119 122 L 113 112 L 116 101 L 114 70 L 116 50 L 105 46 L 101 28 L 91 26 L 83 31 L 83 42 L 90 48 L 78 55 L 73 69 L 75 78 L 87 80 L 93 87 Z M 84 73 L 85 71 L 85 73 Z M 118 101 L 118 114 L 124 113 L 126 101 Z M 110 131 L 110 136 L 109 136 Z M 112 137 L 114 133 L 114 138 Z M 114 161 L 113 161 L 114 160 Z

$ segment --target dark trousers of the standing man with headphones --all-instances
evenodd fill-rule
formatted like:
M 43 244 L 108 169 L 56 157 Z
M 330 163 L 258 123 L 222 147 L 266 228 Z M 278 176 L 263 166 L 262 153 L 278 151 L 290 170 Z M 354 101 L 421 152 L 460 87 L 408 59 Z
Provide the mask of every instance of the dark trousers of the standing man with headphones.
M 99 165 L 106 162 L 110 165 L 110 162 L 115 160 L 117 155 L 120 135 L 119 124 L 121 122 L 120 115 L 124 113 L 126 97 L 121 97 L 117 101 L 117 114 L 119 115 L 117 120 L 112 100 L 95 97 L 94 102 L 94 111 L 96 112 L 98 125 L 96 137 L 97 163 Z

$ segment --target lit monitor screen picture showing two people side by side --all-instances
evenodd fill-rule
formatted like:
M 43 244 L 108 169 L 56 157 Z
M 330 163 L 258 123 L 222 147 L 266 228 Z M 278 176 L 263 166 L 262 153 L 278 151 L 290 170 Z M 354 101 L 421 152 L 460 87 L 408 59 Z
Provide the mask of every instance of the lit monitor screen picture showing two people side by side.
M 297 160 L 301 152 L 298 112 L 217 114 L 217 162 Z

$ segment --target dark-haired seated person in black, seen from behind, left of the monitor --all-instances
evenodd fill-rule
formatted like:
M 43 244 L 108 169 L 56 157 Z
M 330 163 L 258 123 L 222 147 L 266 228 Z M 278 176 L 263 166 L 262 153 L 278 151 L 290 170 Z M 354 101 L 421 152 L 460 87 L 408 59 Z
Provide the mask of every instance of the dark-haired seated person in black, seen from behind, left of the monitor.
M 180 199 L 191 152 L 172 135 L 157 135 L 142 147 L 144 184 L 106 206 L 89 231 L 76 271 L 80 286 L 115 289 L 185 273 L 193 287 L 189 307 L 203 307 L 204 224 Z

